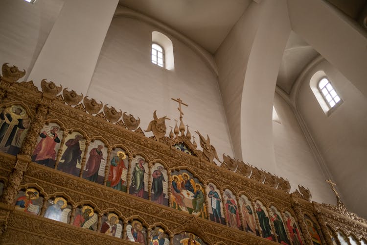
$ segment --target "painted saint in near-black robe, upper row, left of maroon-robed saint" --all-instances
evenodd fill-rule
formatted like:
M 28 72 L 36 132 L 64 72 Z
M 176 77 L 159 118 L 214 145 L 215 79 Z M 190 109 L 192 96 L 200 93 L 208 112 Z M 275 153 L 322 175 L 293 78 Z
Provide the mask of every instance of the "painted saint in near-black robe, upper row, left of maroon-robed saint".
M 69 139 L 65 146 L 68 148 L 65 150 L 64 154 L 61 156 L 61 160 L 64 160 L 63 163 L 60 163 L 59 169 L 63 172 L 67 172 L 73 174 L 75 176 L 79 176 L 80 170 L 76 168 L 77 163 L 81 163 L 82 160 L 82 151 L 80 150 L 79 141 L 83 139 L 83 136 L 80 134 L 75 135 L 74 139 Z

